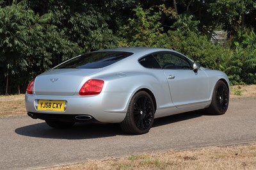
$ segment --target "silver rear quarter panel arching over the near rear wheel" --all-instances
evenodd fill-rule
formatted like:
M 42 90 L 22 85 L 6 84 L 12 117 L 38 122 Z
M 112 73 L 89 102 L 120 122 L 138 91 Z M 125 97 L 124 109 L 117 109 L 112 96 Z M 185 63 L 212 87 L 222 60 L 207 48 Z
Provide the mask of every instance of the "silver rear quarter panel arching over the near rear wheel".
M 131 98 L 141 89 L 148 89 L 152 92 L 156 98 L 156 109 L 173 106 L 163 70 L 144 68 L 138 63 L 138 58 L 103 68 L 102 72 L 95 73 L 91 78 L 104 80 L 103 93 L 129 93 L 129 97 L 118 98 L 118 95 L 115 95 L 106 100 L 106 103 L 113 107 L 116 107 L 116 103 L 120 104 L 121 100 L 122 105 L 119 106 L 119 109 L 123 111 L 127 111 Z

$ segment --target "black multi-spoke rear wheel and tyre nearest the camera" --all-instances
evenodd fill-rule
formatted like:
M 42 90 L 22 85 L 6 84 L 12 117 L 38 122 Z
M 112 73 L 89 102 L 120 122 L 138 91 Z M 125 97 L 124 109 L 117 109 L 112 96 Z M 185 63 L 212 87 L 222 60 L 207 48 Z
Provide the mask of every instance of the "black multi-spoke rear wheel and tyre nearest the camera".
M 146 134 L 154 123 L 155 112 L 152 97 L 146 91 L 139 91 L 132 97 L 120 127 L 129 134 Z

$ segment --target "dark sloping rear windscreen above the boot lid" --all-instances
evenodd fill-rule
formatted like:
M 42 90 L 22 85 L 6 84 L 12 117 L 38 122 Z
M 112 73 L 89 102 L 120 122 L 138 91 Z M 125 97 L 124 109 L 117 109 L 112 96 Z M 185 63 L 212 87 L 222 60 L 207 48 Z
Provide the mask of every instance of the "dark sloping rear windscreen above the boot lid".
M 102 68 L 111 65 L 117 61 L 131 56 L 131 52 L 91 52 L 78 56 L 77 58 L 70 59 L 69 61 L 56 66 L 59 68 Z

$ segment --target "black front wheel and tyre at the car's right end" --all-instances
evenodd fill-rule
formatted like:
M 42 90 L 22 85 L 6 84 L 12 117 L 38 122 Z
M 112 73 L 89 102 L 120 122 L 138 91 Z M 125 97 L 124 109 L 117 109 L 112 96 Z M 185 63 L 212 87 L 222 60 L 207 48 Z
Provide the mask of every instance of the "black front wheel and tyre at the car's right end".
M 227 84 L 218 81 L 214 87 L 211 105 L 206 109 L 209 114 L 221 115 L 225 114 L 228 109 L 229 90 Z

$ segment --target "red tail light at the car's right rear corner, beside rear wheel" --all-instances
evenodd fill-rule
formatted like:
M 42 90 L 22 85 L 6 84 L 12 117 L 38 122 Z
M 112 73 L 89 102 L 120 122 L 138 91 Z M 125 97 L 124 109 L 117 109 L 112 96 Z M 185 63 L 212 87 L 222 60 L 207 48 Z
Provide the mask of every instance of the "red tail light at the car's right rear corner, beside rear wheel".
M 90 79 L 84 83 L 79 91 L 79 95 L 99 95 L 104 85 L 104 81 L 98 79 Z

